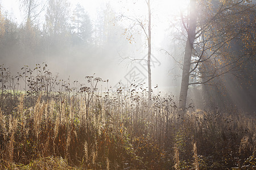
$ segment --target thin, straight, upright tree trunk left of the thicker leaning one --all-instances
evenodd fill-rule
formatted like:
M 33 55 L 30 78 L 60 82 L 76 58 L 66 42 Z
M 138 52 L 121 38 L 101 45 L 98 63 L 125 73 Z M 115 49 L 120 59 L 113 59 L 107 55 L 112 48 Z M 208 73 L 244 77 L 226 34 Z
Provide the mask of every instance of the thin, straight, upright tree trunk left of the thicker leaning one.
M 148 74 L 148 105 L 151 108 L 151 67 L 150 67 L 150 58 L 151 58 L 151 9 L 150 9 L 150 0 L 147 1 L 148 7 L 148 53 L 147 53 L 147 74 Z

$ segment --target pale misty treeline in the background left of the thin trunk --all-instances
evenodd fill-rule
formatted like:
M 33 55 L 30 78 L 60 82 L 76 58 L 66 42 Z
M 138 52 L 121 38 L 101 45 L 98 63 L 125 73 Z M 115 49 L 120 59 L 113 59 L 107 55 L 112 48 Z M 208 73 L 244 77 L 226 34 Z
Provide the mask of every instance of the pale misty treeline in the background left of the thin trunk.
M 12 73 L 24 65 L 47 62 L 53 63 L 50 67 L 54 73 L 73 74 L 78 79 L 77 76 L 84 77 L 92 70 L 96 73 L 106 62 L 117 60 L 120 48 L 123 53 L 129 50 L 110 5 L 102 7 L 96 19 L 91 19 L 79 4 L 72 9 L 68 1 L 47 1 L 42 5 L 40 17 L 26 18 L 19 24 L 11 14 L 1 13 L 0 59 L 1 64 L 11 67 Z M 26 8 L 21 10 L 28 15 Z

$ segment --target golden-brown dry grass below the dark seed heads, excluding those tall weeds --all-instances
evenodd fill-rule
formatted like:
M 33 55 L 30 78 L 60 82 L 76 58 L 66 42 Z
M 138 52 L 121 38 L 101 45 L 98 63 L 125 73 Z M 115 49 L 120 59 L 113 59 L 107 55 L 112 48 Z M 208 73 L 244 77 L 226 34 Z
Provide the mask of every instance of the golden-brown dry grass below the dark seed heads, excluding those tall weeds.
M 190 156 L 188 165 L 191 168 L 199 169 L 200 147 L 209 145 L 204 143 L 208 138 L 222 142 L 221 145 L 227 150 L 236 148 L 233 152 L 239 152 L 240 155 L 255 150 L 254 119 L 241 113 L 196 111 L 184 120 L 183 125 L 177 125 L 175 108 L 169 108 L 172 112 L 169 113 L 167 127 L 166 110 L 159 109 L 159 105 L 152 105 L 154 113 L 146 115 L 143 104 L 137 101 L 135 105 L 127 106 L 118 104 L 120 101 L 105 103 L 96 97 L 89 107 L 87 132 L 83 99 L 77 103 L 70 102 L 73 99 L 46 102 L 39 95 L 35 105 L 30 108 L 24 107 L 24 101 L 21 95 L 14 114 L 5 115 L 0 108 L 0 137 L 3 140 L 0 145 L 0 169 L 112 169 L 121 166 L 124 160 L 133 162 L 134 167 L 130 164 L 131 168 L 135 168 L 136 164 L 146 169 L 155 168 L 167 162 L 166 168 L 181 169 L 184 156 Z M 248 133 L 238 131 L 240 129 L 246 129 Z M 234 133 L 241 137 L 227 137 Z M 180 141 L 176 141 L 177 135 Z M 147 142 L 138 146 L 135 145 L 135 139 L 142 140 L 141 143 L 137 142 L 140 145 L 143 140 Z M 227 140 L 236 142 L 235 147 L 227 146 Z M 139 152 L 141 150 L 144 154 Z M 159 152 L 145 155 L 145 152 L 152 150 Z M 169 154 L 164 155 L 163 151 Z M 218 152 L 221 154 L 224 151 Z

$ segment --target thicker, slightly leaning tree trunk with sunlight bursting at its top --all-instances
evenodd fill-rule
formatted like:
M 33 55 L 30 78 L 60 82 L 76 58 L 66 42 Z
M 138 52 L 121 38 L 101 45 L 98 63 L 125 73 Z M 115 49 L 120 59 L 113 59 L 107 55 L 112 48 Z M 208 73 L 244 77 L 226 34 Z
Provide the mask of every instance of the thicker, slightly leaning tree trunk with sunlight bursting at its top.
M 189 86 L 189 70 L 191 66 L 191 55 L 193 43 L 196 34 L 196 0 L 191 0 L 189 4 L 189 21 L 188 21 L 188 39 L 185 46 L 183 72 L 180 87 L 179 113 L 181 118 L 185 117 L 185 107 L 187 103 L 187 94 Z

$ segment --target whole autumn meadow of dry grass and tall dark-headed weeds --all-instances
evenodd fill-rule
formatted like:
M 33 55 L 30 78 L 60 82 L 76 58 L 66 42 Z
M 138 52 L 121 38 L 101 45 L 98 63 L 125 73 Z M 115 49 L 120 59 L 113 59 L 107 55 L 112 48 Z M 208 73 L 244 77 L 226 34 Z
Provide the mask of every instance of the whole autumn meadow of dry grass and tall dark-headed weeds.
M 143 84 L 0 68 L 0 169 L 255 169 L 255 116 L 188 108 Z

